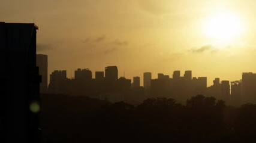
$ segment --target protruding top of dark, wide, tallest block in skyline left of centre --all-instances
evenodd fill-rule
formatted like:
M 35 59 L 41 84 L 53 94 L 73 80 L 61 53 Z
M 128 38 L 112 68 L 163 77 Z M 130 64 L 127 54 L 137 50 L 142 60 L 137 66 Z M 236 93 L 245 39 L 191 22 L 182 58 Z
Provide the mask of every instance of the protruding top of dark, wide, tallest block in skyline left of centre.
M 116 82 L 118 80 L 118 67 L 105 67 L 105 79 L 110 82 Z

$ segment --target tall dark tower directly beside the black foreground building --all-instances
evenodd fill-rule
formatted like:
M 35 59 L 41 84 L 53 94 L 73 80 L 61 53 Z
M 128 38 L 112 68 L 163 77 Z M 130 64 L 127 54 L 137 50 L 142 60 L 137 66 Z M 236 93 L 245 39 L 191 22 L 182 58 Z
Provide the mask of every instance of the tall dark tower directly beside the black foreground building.
M 37 54 L 37 66 L 39 67 L 39 74 L 42 76 L 40 92 L 46 93 L 48 89 L 48 56 Z

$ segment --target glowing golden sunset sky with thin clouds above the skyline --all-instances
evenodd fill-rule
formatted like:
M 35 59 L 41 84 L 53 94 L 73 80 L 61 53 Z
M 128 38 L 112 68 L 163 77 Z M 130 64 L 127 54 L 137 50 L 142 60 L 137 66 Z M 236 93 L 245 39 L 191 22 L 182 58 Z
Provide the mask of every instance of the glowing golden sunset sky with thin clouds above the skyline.
M 152 72 L 239 80 L 256 72 L 256 1 L 1 0 L 0 21 L 35 23 L 37 52 L 53 70 L 118 66 L 128 79 Z M 74 76 L 74 73 L 72 73 Z M 143 85 L 143 83 L 141 83 Z

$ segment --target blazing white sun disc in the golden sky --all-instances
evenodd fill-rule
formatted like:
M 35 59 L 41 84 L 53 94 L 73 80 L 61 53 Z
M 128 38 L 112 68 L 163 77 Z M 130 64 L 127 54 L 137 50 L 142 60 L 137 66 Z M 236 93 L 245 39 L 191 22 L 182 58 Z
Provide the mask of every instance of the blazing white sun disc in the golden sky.
M 204 32 L 213 39 L 230 41 L 242 33 L 242 20 L 234 13 L 219 13 L 207 18 Z

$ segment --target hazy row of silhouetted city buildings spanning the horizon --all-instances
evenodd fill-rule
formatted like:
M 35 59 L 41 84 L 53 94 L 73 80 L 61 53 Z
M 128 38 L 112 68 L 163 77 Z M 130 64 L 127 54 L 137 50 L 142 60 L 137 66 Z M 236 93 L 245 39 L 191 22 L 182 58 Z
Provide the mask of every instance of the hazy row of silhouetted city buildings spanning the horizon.
M 47 55 L 40 54 L 37 57 L 39 67 L 47 66 Z M 55 70 L 50 74 L 47 86 L 47 67 L 42 67 L 41 70 L 41 92 L 51 94 L 86 95 L 100 100 L 126 101 L 131 104 L 138 104 L 152 97 L 174 98 L 185 104 L 192 96 L 201 94 L 224 100 L 227 105 L 256 103 L 255 73 L 242 73 L 242 79 L 234 82 L 215 78 L 213 85 L 207 87 L 207 77 L 192 77 L 191 70 L 185 71 L 183 76 L 179 70 L 173 71 L 171 77 L 158 73 L 156 79 L 152 79 L 152 73 L 145 72 L 142 86 L 140 77 L 133 77 L 133 80 L 119 77 L 118 67 L 109 66 L 105 67 L 105 71 L 95 71 L 95 78 L 92 78 L 92 71 L 89 69 L 77 69 L 71 79 L 67 78 L 66 70 Z

